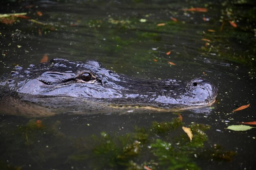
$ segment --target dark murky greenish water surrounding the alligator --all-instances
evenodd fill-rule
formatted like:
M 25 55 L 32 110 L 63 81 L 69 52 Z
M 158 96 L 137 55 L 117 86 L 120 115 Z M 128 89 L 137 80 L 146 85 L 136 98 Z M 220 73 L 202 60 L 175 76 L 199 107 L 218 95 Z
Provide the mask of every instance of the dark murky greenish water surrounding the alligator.
M 208 11 L 182 10 L 192 7 Z M 256 119 L 253 1 L 10 0 L 1 2 L 0 9 L 30 17 L 0 23 L 1 74 L 16 65 L 39 63 L 47 55 L 49 59 L 96 59 L 117 73 L 140 78 L 204 77 L 219 89 L 218 102 L 208 113 L 181 113 L 182 126 L 211 126 L 205 134 L 195 133 L 191 145 L 182 126 L 154 131 L 153 121 L 172 122 L 178 117 L 173 113 L 134 109 L 122 115 L 61 114 L 37 119 L 2 113 L 0 169 L 132 170 L 145 165 L 152 170 L 254 169 L 255 129 L 225 129 Z M 247 104 L 249 108 L 232 113 Z M 142 127 L 144 131 L 138 130 Z M 148 135 L 144 142 L 141 134 Z M 157 139 L 166 146 L 154 147 Z M 169 151 L 168 143 L 175 149 Z M 166 149 L 159 149 L 161 145 Z

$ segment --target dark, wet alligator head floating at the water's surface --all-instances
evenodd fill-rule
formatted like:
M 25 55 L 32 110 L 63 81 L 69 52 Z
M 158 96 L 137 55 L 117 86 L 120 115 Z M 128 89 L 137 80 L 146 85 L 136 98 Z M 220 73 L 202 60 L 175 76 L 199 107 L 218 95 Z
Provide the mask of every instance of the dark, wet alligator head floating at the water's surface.
M 31 64 L 27 69 L 15 66 L 15 71 L 2 76 L 0 112 L 23 110 L 27 113 L 31 110 L 28 103 L 43 106 L 33 106 L 34 112 L 54 107 L 86 109 L 88 104 L 83 102 L 92 103 L 90 109 L 100 104 L 186 108 L 214 103 L 217 91 L 215 85 L 203 78 L 139 79 L 108 70 L 96 60 L 73 62 L 56 58 Z M 13 103 L 16 105 L 10 109 Z M 43 113 L 45 111 L 38 114 Z

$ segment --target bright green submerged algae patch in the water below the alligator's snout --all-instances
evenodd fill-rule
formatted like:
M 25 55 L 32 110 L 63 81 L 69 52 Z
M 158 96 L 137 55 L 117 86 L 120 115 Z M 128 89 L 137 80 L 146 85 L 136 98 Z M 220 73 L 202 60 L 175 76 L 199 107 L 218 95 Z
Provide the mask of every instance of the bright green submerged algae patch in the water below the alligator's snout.
M 205 131 L 210 126 L 192 124 L 189 127 L 193 132 L 192 141 L 182 132 L 180 118 L 166 122 L 154 121 L 149 128 L 135 127 L 134 132 L 121 136 L 102 132 L 99 137 L 92 136 L 94 139 L 92 152 L 83 150 L 82 152 L 89 154 L 86 156 L 74 154 L 70 157 L 70 161 L 89 159 L 90 167 L 95 169 L 109 167 L 142 170 L 144 166 L 150 165 L 152 170 L 183 168 L 200 170 L 196 163 L 197 155 L 200 155 L 204 148 L 204 142 L 208 140 Z M 169 138 L 171 131 L 175 131 L 175 135 Z M 158 137 L 159 135 L 161 139 Z M 223 152 L 220 151 L 220 153 Z M 147 157 L 143 156 L 145 154 Z M 98 162 L 101 164 L 99 165 Z

